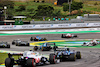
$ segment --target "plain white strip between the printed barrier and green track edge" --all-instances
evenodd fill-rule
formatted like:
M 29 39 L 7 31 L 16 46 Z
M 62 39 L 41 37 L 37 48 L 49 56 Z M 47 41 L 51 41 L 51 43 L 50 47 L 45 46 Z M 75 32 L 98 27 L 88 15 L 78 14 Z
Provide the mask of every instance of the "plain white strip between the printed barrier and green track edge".
M 38 32 L 72 32 L 72 31 L 95 31 L 100 28 L 80 28 L 80 29 L 55 29 L 55 30 L 31 30 L 31 31 L 0 31 L 0 33 L 38 33 Z

